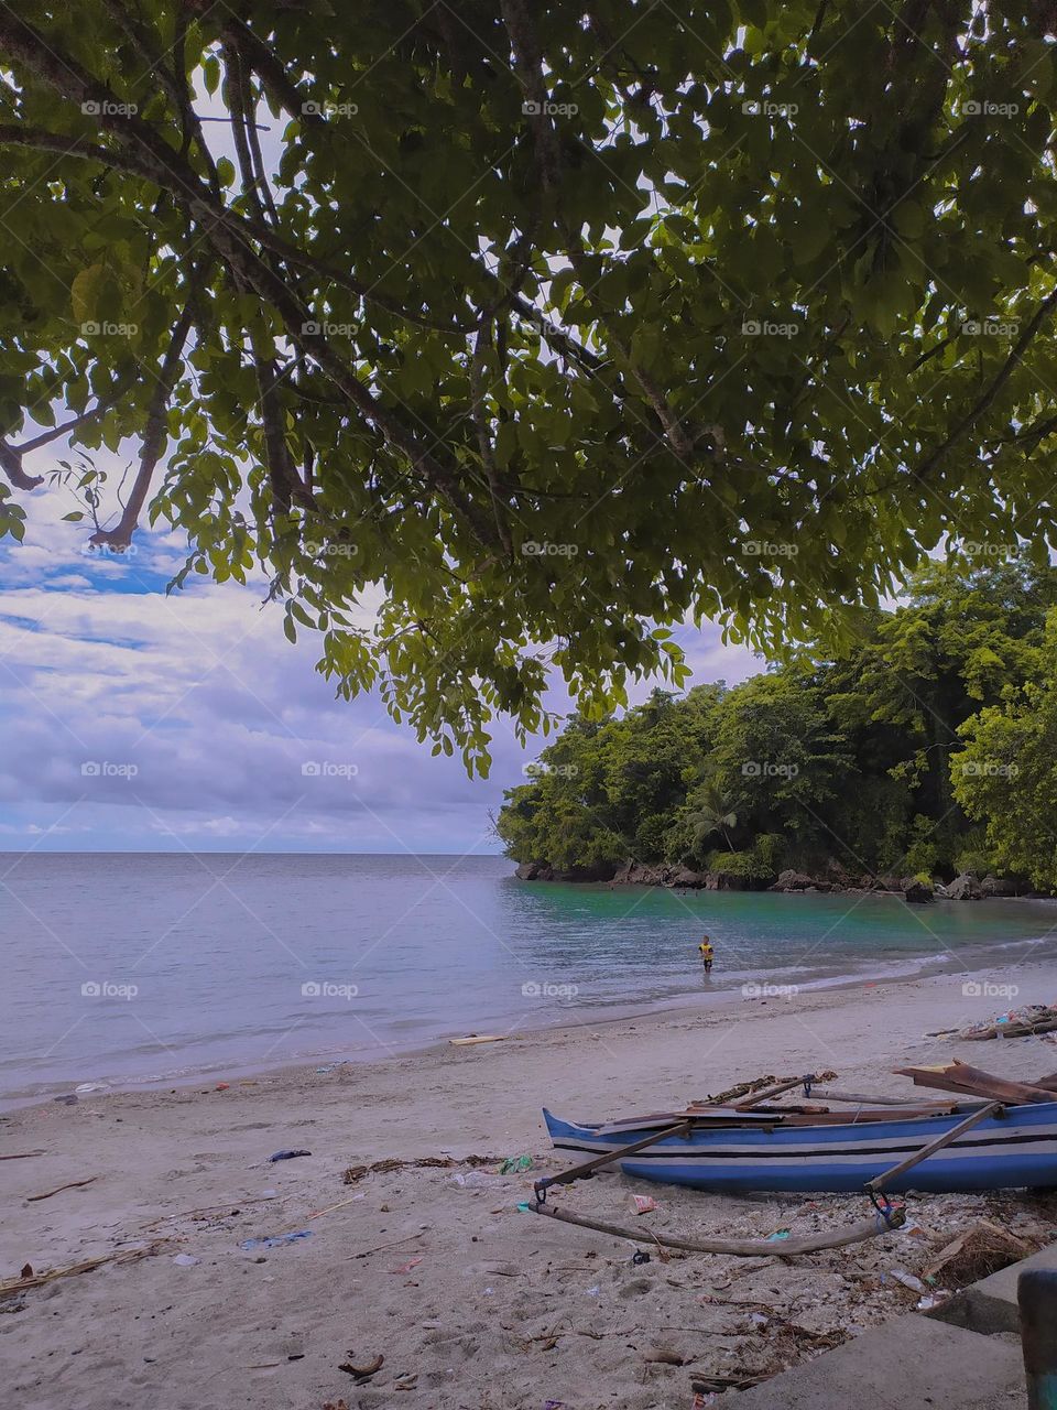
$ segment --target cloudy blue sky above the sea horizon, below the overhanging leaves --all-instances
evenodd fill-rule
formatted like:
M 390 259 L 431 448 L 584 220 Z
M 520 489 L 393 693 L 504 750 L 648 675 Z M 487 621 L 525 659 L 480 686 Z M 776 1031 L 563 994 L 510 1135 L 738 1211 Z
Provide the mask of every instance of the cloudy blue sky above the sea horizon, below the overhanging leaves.
M 502 850 L 489 815 L 543 740 L 524 750 L 497 719 L 490 776 L 469 780 L 376 695 L 335 699 L 319 637 L 286 640 L 264 580 L 166 595 L 182 537 L 141 532 L 128 557 L 100 557 L 63 522 L 65 491 L 18 499 L 25 541 L 0 540 L 0 850 Z M 692 684 L 762 670 L 719 627 L 676 639 Z M 560 681 L 548 704 L 569 708 Z

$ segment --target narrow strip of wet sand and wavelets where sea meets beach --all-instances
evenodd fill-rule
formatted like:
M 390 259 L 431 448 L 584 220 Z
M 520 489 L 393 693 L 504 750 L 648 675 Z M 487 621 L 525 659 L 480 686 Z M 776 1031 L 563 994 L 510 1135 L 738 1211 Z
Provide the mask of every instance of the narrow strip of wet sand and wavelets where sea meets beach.
M 572 1015 L 555 1015 L 552 1021 L 540 1022 L 533 1026 L 517 1026 L 509 1031 L 503 1031 L 502 1021 L 497 1021 L 495 1026 L 482 1026 L 481 1032 L 497 1032 L 502 1042 L 524 1041 L 531 1038 L 540 1038 L 544 1035 L 552 1035 L 554 1038 L 562 1038 L 571 1034 L 576 1034 L 581 1029 L 605 1029 L 613 1025 L 640 1022 L 640 1021 L 665 1021 L 669 1018 L 686 1017 L 691 1014 L 699 1014 L 703 1018 L 722 1017 L 723 1012 L 730 1011 L 731 1014 L 744 1012 L 747 1005 L 762 1004 L 764 1007 L 769 1003 L 772 1005 L 786 1003 L 788 998 L 784 993 L 768 993 L 768 990 L 793 990 L 795 997 L 809 997 L 809 995 L 829 995 L 851 993 L 858 988 L 877 988 L 878 986 L 905 986 L 913 984 L 919 980 L 939 979 L 939 977 L 956 977 L 956 976 L 972 976 L 972 974 L 987 974 L 992 973 L 998 963 L 1001 963 L 1002 952 L 1006 950 L 1034 950 L 1041 945 L 1054 945 L 1054 959 L 1057 960 L 1057 938 L 1051 942 L 1049 938 L 1041 939 L 1015 939 L 1015 940 L 999 940 L 999 942 L 981 942 L 974 946 L 979 953 L 965 956 L 965 955 L 905 955 L 902 952 L 894 952 L 894 955 L 885 957 L 877 957 L 864 962 L 864 967 L 857 973 L 837 974 L 829 977 L 815 977 L 808 979 L 802 983 L 788 984 L 782 981 L 782 976 L 788 971 L 775 971 L 777 979 L 774 981 L 762 977 L 762 983 L 757 987 L 761 988 L 760 995 L 747 995 L 744 993 L 747 986 L 736 986 L 730 988 L 715 988 L 702 990 L 693 988 L 686 990 L 685 995 L 672 1001 L 671 997 L 665 997 L 655 1003 L 648 1000 L 630 1004 L 614 1004 L 605 1007 L 589 1007 L 583 1005 L 581 1011 L 582 1017 L 574 1018 Z M 889 964 L 885 969 L 885 963 Z M 891 964 L 903 966 L 902 970 L 892 973 Z M 1032 959 L 1030 953 L 1019 959 L 1009 959 L 1010 969 L 1030 967 L 1033 964 L 1046 966 L 1047 959 L 1041 956 L 1039 959 Z M 695 970 L 696 973 L 696 970 Z M 722 979 L 722 973 L 719 976 Z M 1002 1004 L 998 998 L 994 1000 L 996 1008 Z M 0 1118 L 10 1115 L 13 1112 L 31 1110 L 35 1107 L 45 1105 L 48 1103 L 58 1103 L 63 1097 L 78 1096 L 78 1100 L 90 1100 L 99 1097 L 111 1097 L 121 1094 L 135 1094 L 135 1093 L 179 1093 L 187 1089 L 200 1087 L 203 1083 L 238 1083 L 251 1079 L 269 1079 L 269 1077 L 296 1077 L 296 1076 L 311 1076 L 321 1067 L 337 1069 L 337 1067 L 375 1067 L 381 1065 L 388 1065 L 397 1062 L 404 1058 L 428 1058 L 437 1056 L 440 1053 L 448 1052 L 451 1049 L 451 1038 L 468 1036 L 462 1031 L 452 1032 L 451 1035 L 444 1035 L 441 1038 L 428 1038 L 424 1041 L 410 1041 L 407 1043 L 385 1043 L 388 1050 L 379 1052 L 378 1048 L 364 1048 L 350 1050 L 345 1046 L 327 1046 L 320 1048 L 314 1053 L 300 1055 L 293 1060 L 276 1062 L 276 1063 L 261 1063 L 252 1059 L 245 1062 L 213 1062 L 204 1063 L 197 1067 L 189 1067 L 187 1070 L 178 1070 L 173 1073 L 151 1074 L 144 1077 L 124 1077 L 124 1079 L 103 1079 L 103 1077 L 85 1077 L 82 1083 L 55 1083 L 51 1090 L 18 1096 L 18 1097 L 0 1097 Z M 482 1046 L 502 1046 L 489 1043 Z M 96 1087 L 94 1091 L 86 1091 L 83 1094 L 76 1093 L 78 1086 Z

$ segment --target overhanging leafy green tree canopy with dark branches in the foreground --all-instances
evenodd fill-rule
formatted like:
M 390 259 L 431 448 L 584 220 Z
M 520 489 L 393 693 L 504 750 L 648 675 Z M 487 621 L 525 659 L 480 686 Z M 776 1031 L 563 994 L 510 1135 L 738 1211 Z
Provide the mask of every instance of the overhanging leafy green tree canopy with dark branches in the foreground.
M 681 682 L 688 616 L 777 650 L 944 536 L 1041 563 L 1053 27 L 0 7 L 0 532 L 30 451 L 137 436 L 127 492 L 75 475 L 97 544 L 148 516 L 186 572 L 262 568 L 338 689 L 481 767 L 551 671 L 586 713 Z

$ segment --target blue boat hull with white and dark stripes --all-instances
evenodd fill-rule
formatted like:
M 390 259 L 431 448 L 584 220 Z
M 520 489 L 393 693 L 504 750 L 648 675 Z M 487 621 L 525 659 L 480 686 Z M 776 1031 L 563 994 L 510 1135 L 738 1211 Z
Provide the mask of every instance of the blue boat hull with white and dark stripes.
M 619 1151 L 650 1131 L 599 1135 L 589 1125 L 561 1121 L 544 1108 L 554 1146 L 583 1158 Z M 688 1139 L 667 1136 L 626 1160 L 624 1175 L 695 1190 L 740 1193 L 860 1191 L 867 1180 L 950 1131 L 964 1117 L 906 1121 L 848 1121 L 826 1127 L 698 1128 Z M 889 1190 L 1002 1190 L 1057 1186 L 1057 1101 L 1006 1107 L 895 1180 Z

